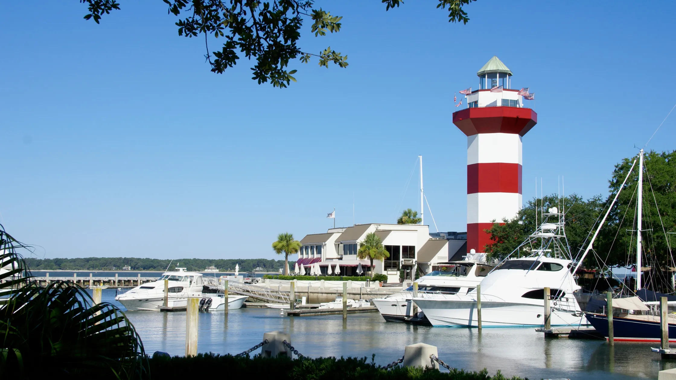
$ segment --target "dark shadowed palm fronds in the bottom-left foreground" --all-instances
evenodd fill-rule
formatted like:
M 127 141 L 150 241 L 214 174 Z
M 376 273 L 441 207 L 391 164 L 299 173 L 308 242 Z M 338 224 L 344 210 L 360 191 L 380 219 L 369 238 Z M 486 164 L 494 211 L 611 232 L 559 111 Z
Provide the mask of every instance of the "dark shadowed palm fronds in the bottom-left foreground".
M 69 281 L 41 287 L 18 253 L 27 248 L 0 225 L 0 373 L 147 377 L 143 343 L 124 313 L 107 302 L 94 304 Z

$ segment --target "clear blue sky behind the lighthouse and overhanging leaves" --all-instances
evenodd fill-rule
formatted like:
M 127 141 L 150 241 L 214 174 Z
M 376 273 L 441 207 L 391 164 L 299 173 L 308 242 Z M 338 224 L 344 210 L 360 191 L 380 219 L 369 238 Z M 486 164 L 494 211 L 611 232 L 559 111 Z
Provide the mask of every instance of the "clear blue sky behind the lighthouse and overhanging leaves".
M 545 193 L 564 176 L 566 193 L 606 195 L 676 103 L 669 1 L 479 0 L 462 25 L 432 0 L 320 0 L 343 30 L 307 23 L 301 47 L 330 45 L 349 68 L 294 62 L 282 90 L 246 60 L 212 74 L 162 1 L 120 3 L 100 25 L 76 0 L 0 13 L 0 222 L 40 257 L 274 258 L 277 233 L 323 232 L 334 207 L 352 225 L 353 194 L 356 223 L 417 209 L 418 154 L 439 229 L 465 231 L 452 99 L 493 55 L 536 94 L 524 199 L 536 176 Z M 676 112 L 648 148 L 675 142 Z

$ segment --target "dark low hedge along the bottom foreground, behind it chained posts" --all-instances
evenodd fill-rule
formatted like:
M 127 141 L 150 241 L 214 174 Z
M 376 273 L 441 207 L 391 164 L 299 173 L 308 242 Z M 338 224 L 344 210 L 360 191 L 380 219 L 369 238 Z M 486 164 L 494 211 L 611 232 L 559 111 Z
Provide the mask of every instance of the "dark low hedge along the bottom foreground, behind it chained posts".
M 464 371 L 452 369 L 440 372 L 436 369 L 420 369 L 395 366 L 391 370 L 366 358 L 262 358 L 261 356 L 197 354 L 197 356 L 174 356 L 150 358 L 150 374 L 153 379 L 189 379 L 200 371 L 221 371 L 229 379 L 275 380 L 523 380 L 521 377 L 505 377 L 498 371 Z

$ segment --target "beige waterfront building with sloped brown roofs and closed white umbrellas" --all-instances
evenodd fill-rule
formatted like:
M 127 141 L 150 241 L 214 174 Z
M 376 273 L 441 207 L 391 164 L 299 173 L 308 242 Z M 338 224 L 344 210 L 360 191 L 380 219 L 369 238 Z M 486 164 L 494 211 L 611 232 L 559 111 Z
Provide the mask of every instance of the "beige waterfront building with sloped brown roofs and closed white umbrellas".
M 466 255 L 467 233 L 430 233 L 423 224 L 355 224 L 352 227 L 329 229 L 326 233 L 306 235 L 301 240 L 297 263 L 303 264 L 306 273 L 318 263 L 323 275 L 329 266 L 333 271 L 339 264 L 340 274 L 356 276 L 357 266 L 368 270 L 369 260 L 358 260 L 357 251 L 366 234 L 376 233 L 383 241 L 389 258 L 374 261 L 374 271 L 387 275 L 387 282 L 411 281 L 414 273 L 425 275 L 440 262 L 462 260 Z

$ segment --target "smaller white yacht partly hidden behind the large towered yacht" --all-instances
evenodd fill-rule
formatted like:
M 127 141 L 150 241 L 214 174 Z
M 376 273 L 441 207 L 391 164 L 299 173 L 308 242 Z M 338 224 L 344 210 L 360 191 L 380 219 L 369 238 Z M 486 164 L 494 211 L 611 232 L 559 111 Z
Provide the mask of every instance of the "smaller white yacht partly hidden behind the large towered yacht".
M 440 263 L 442 270 L 435 270 L 423 277 L 418 283 L 418 297 L 437 294 L 466 294 L 474 290 L 481 280 L 493 268 L 477 260 L 462 260 Z M 388 321 L 425 321 L 423 312 L 412 304 L 413 287 L 385 298 L 372 300 L 381 316 Z

